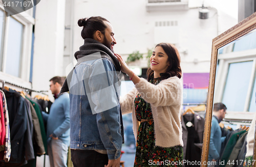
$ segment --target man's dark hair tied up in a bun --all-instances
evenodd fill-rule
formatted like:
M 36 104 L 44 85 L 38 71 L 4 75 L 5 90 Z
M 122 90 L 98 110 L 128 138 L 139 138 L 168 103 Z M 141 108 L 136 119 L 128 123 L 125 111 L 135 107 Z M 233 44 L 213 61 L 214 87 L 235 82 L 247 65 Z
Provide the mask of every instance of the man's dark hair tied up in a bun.
M 108 20 L 103 17 L 100 17 L 100 16 L 79 19 L 77 22 L 78 26 L 83 27 L 83 29 L 81 31 L 82 38 L 83 39 L 86 39 L 86 38 L 93 39 L 93 34 L 96 31 L 100 31 L 101 33 L 105 34 L 106 25 L 105 25 L 104 21 L 108 21 Z

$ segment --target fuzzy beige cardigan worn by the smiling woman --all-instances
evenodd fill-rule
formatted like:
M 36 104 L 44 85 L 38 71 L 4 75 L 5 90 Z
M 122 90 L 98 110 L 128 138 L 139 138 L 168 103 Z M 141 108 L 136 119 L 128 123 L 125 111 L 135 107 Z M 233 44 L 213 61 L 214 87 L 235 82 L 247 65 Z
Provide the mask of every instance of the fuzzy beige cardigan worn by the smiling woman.
M 135 88 L 120 98 L 122 114 L 132 112 L 135 138 L 137 138 L 139 122 L 135 115 L 134 99 L 138 93 L 146 102 L 151 104 L 155 123 L 156 146 L 183 146 L 180 120 L 182 101 L 180 79 L 176 76 L 170 77 L 162 80 L 158 85 L 153 85 L 140 78 L 140 82 L 135 85 Z

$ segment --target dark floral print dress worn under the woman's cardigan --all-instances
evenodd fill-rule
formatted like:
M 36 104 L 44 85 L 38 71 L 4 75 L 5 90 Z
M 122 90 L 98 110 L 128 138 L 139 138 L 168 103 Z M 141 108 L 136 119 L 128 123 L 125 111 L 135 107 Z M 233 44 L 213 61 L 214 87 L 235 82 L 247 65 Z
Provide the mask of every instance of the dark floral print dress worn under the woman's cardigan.
M 161 80 L 151 77 L 150 83 L 157 85 Z M 137 94 L 135 100 L 135 114 L 138 121 L 153 119 L 150 103 Z M 171 139 L 171 138 L 170 138 Z M 182 146 L 163 148 L 155 146 L 154 121 L 142 122 L 138 128 L 137 145 L 134 166 L 182 166 Z M 180 163 L 179 163 L 180 162 Z

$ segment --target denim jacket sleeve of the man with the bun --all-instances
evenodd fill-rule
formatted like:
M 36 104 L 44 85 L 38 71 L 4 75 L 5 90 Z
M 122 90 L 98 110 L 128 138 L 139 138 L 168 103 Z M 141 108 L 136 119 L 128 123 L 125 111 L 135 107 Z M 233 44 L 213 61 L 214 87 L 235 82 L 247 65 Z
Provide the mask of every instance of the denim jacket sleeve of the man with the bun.
M 107 59 L 94 63 L 86 90 L 93 114 L 97 114 L 97 126 L 101 141 L 109 159 L 121 155 L 119 83 L 114 65 Z M 86 88 L 88 89 L 88 88 Z

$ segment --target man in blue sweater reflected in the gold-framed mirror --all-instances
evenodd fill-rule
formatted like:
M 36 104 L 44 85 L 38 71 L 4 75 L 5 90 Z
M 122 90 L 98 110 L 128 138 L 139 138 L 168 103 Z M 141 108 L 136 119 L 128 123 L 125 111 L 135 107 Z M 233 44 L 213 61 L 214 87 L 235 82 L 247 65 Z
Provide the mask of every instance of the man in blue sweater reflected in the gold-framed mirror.
M 210 147 L 209 147 L 209 158 L 211 162 L 208 166 L 215 166 L 220 159 L 221 152 L 221 127 L 219 123 L 223 120 L 226 114 L 227 107 L 223 103 L 214 104 L 214 112 L 211 120 L 211 131 L 210 131 Z

